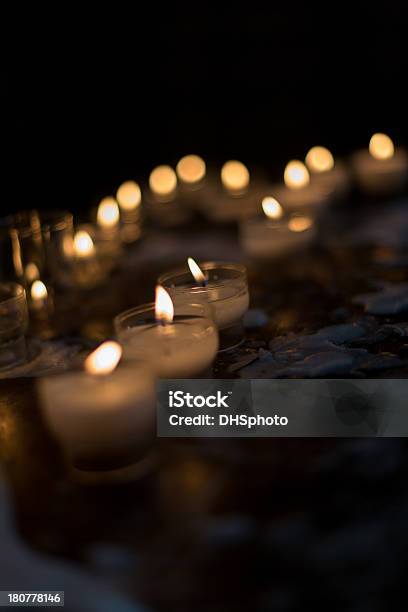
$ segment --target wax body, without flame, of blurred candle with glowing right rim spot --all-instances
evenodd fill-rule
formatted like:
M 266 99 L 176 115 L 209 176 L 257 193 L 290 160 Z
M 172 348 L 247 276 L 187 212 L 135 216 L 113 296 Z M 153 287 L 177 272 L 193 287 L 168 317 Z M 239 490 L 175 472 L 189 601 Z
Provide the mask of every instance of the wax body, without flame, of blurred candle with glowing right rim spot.
M 255 259 L 274 259 L 293 252 L 301 252 L 316 236 L 313 223 L 301 232 L 294 232 L 285 219 L 270 221 L 251 219 L 241 225 L 240 238 L 245 252 Z

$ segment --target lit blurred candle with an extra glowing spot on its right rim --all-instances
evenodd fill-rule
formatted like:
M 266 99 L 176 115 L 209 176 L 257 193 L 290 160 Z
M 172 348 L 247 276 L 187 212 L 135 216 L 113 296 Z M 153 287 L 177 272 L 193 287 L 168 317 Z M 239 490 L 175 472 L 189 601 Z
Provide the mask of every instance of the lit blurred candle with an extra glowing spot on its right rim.
M 240 239 L 245 252 L 254 259 L 272 260 L 309 246 L 315 236 L 313 219 L 307 215 L 285 215 L 277 200 L 262 201 L 263 217 L 242 223 Z

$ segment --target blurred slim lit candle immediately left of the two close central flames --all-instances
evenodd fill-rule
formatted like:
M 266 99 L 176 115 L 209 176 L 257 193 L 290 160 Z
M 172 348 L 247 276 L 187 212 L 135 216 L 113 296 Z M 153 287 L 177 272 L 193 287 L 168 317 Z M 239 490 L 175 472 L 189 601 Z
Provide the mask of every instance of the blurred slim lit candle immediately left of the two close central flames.
M 141 235 L 141 203 L 142 192 L 135 181 L 125 181 L 116 192 L 116 200 L 120 207 L 122 221 L 121 239 L 132 243 Z

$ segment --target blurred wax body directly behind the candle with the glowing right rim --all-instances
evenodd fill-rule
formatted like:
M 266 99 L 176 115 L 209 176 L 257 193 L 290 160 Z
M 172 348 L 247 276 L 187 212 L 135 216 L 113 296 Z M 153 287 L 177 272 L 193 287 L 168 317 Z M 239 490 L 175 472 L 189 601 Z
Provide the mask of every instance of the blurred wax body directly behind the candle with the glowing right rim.
M 280 183 L 272 188 L 271 194 L 289 212 L 317 211 L 325 208 L 331 199 L 331 194 L 327 188 L 313 181 L 300 189 L 289 189 L 289 187 Z

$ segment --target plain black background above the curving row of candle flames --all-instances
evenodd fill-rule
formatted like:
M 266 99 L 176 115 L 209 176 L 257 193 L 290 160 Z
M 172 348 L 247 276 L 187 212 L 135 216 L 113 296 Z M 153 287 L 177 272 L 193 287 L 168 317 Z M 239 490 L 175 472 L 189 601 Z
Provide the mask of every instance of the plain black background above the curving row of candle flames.
M 8 47 L 3 213 L 86 210 L 196 152 L 279 175 L 313 144 L 406 142 L 407 11 L 397 4 L 151 5 L 30 15 Z

